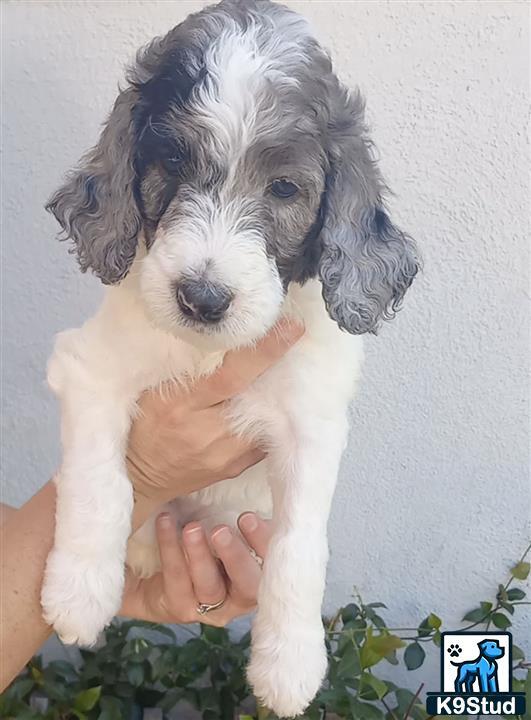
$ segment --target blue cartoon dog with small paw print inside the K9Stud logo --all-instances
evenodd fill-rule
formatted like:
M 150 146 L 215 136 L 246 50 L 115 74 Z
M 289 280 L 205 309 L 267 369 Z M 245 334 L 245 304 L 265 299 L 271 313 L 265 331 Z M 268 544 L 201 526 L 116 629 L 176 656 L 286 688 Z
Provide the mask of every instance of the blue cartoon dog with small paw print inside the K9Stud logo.
M 500 647 L 499 640 L 482 640 L 478 643 L 479 654 L 474 660 L 465 660 L 463 662 L 455 662 L 451 660 L 452 665 L 457 667 L 455 676 L 455 692 L 471 693 L 474 692 L 474 683 L 476 680 L 479 684 L 479 692 L 499 692 L 498 684 L 498 660 L 504 656 L 505 648 Z M 460 655 L 461 647 L 452 644 L 448 648 L 450 657 Z

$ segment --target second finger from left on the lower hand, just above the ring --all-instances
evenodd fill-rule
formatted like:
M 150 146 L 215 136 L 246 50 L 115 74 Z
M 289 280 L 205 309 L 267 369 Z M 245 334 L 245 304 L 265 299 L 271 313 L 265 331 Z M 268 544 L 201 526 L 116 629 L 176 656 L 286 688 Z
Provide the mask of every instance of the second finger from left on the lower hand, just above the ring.
M 227 594 L 225 580 L 199 523 L 185 526 L 183 544 L 197 601 L 214 605 L 224 600 Z

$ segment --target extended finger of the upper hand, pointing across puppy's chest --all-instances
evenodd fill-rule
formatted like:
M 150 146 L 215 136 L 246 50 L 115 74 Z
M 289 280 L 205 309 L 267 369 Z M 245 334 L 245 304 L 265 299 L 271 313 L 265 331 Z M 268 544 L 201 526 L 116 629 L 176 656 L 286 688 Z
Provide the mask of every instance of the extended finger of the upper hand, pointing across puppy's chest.
M 191 406 L 210 407 L 243 392 L 285 355 L 303 334 L 302 325 L 283 319 L 254 347 L 231 350 L 215 373 L 192 387 L 189 396 Z

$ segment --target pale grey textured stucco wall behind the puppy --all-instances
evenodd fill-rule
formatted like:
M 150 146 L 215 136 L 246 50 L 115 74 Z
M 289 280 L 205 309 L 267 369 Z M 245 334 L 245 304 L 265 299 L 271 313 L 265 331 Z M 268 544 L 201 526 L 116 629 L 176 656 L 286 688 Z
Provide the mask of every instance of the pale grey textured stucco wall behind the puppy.
M 96 140 L 137 46 L 202 4 L 3 4 L 7 501 L 23 502 L 57 465 L 46 358 L 54 333 L 101 293 L 55 241 L 43 204 Z M 394 623 L 435 611 L 451 626 L 529 535 L 528 6 L 289 4 L 365 92 L 391 209 L 425 256 L 404 311 L 367 341 L 327 606 L 356 586 Z

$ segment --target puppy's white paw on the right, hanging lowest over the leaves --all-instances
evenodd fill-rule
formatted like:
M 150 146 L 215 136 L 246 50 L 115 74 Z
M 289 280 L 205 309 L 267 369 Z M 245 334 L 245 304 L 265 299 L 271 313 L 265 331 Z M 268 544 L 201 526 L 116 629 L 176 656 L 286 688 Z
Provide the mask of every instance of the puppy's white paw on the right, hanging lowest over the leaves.
M 265 707 L 280 717 L 301 715 L 321 687 L 326 667 L 320 623 L 282 622 L 279 627 L 257 617 L 247 675 Z

